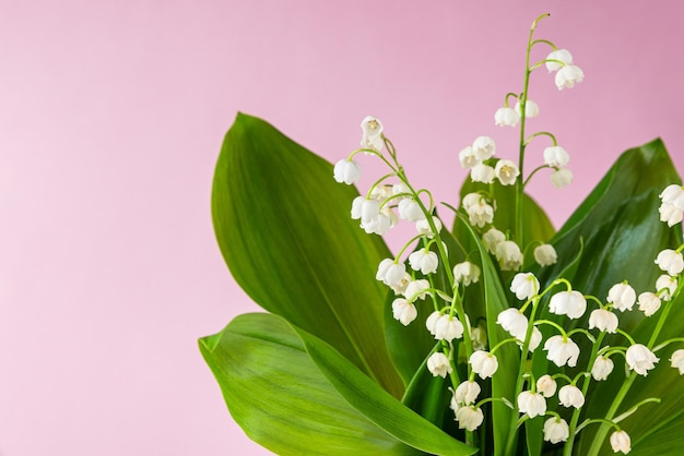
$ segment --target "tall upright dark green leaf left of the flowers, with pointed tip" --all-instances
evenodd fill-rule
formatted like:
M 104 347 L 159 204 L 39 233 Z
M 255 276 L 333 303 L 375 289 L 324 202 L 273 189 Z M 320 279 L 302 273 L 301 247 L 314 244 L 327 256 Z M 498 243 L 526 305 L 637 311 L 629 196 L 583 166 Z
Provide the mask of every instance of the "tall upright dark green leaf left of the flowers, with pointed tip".
M 375 280 L 390 253 L 350 218 L 357 194 L 333 180 L 329 163 L 238 115 L 216 164 L 214 229 L 233 276 L 259 305 L 328 341 L 401 397 L 384 336 L 386 289 Z

